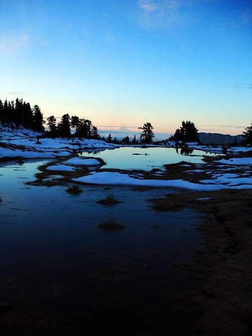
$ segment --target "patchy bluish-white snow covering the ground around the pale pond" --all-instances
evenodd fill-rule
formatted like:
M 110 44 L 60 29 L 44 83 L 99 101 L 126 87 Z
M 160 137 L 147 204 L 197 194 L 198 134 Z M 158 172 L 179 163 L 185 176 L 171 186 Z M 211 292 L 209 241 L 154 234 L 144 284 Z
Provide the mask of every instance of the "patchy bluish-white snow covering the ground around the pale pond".
M 73 155 L 87 149 L 114 149 L 123 146 L 109 144 L 101 140 L 63 138 L 39 138 L 38 140 L 38 137 L 41 137 L 38 132 L 22 127 L 13 129 L 0 124 L 0 158 L 54 158 L 57 160 L 61 158 L 60 163 L 52 162 L 46 170 L 68 173 L 78 173 L 78 171 L 82 173 L 80 168 L 89 166 L 90 170 L 94 170 L 92 173 L 73 179 L 75 182 L 83 183 L 178 187 L 205 191 L 252 188 L 251 147 L 230 147 L 227 150 L 229 157 L 212 163 L 180 164 L 178 167 L 180 169 L 182 167 L 184 179 L 178 179 L 176 176 L 164 179 L 164 176 L 167 176 L 167 171 L 164 168 L 159 169 L 152 174 L 151 178 L 146 179 L 141 173 L 123 174 L 114 171 L 99 171 L 102 164 L 96 158 L 73 157 Z M 187 145 L 189 148 L 205 152 L 222 153 L 223 151 L 221 146 L 200 146 L 197 143 L 188 143 Z M 165 147 L 174 146 L 175 143 L 169 142 Z M 160 147 L 160 145 L 151 145 L 151 147 Z M 249 151 L 251 151 L 250 157 Z M 72 157 L 68 158 L 70 156 Z M 106 166 L 104 167 L 106 168 Z

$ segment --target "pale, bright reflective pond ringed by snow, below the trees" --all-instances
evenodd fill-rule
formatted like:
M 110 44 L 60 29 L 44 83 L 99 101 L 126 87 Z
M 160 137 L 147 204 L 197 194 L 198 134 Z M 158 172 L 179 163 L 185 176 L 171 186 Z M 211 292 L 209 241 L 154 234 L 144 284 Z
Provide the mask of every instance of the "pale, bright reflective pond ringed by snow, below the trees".
M 181 161 L 204 163 L 204 156 L 214 156 L 216 154 L 206 154 L 199 150 L 188 149 L 185 151 L 164 147 L 120 147 L 113 150 L 106 149 L 100 152 L 92 152 L 89 150 L 82 152 L 81 155 L 103 159 L 106 162 L 106 166 L 103 168 L 151 170 L 153 168 L 161 168 L 164 164 L 178 163 Z

